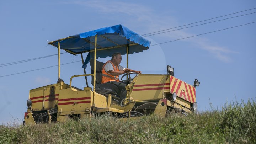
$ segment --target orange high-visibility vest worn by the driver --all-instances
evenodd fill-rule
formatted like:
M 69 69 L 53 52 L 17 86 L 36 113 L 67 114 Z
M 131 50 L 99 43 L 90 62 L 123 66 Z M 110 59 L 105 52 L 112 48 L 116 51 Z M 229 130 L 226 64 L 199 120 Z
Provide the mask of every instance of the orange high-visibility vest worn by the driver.
M 114 68 L 114 71 L 119 71 L 119 68 L 118 66 L 114 66 L 114 64 L 109 60 L 107 61 L 103 67 L 102 67 L 102 81 L 101 83 L 106 83 L 106 82 L 109 82 L 109 81 L 117 81 L 119 82 L 119 76 L 113 76 L 111 74 L 108 74 L 107 71 L 105 71 L 104 67 L 107 63 L 111 63 L 113 68 Z

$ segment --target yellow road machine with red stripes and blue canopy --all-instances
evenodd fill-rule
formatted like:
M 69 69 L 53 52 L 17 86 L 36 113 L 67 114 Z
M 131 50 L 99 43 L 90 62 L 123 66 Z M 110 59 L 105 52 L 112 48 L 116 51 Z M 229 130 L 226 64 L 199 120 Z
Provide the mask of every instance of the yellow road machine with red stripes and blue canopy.
M 68 118 L 90 118 L 92 115 L 112 114 L 117 118 L 139 117 L 147 114 L 166 116 L 171 112 L 187 114 L 197 109 L 196 79 L 193 86 L 174 77 L 173 68 L 167 65 L 167 74 L 126 73 L 127 96 L 120 100 L 117 92 L 102 84 L 102 66 L 98 58 L 112 56 L 114 52 L 126 54 L 128 68 L 129 54 L 149 49 L 150 41 L 123 25 L 101 28 L 58 39 L 48 44 L 58 48 L 59 78 L 57 83 L 30 90 L 24 124 L 40 122 L 65 122 Z M 77 55 L 81 54 L 84 74 L 74 75 L 70 83 L 60 79 L 60 49 Z M 85 61 L 83 53 L 88 53 Z M 86 74 L 87 64 L 91 74 Z M 135 75 L 133 78 L 132 74 Z M 92 88 L 87 76 L 92 76 Z M 73 87 L 72 79 L 86 79 L 84 89 Z

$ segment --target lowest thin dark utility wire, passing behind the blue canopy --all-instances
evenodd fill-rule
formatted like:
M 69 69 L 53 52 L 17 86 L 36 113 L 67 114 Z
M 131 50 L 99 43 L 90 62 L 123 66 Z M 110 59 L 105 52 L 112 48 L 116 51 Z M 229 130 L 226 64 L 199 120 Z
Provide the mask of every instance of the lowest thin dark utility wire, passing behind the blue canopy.
M 251 22 L 251 23 L 256 23 L 256 21 L 255 21 L 255 22 Z M 239 25 L 239 26 L 224 28 L 224 29 L 222 29 L 222 30 L 207 32 L 207 33 L 203 33 L 203 34 L 208 34 L 208 33 L 213 33 L 213 32 L 218 32 L 218 31 L 223 31 L 223 30 L 228 30 L 228 29 L 230 29 L 230 28 L 235 28 L 235 27 L 240 27 L 240 26 L 244 26 L 244 25 L 249 25 L 249 24 L 251 24 L 251 23 L 246 23 L 246 24 Z M 198 35 L 195 35 L 195 36 L 190 36 L 190 37 L 185 37 L 185 38 L 191 38 L 191 37 L 201 36 L 201 35 L 203 35 L 203 34 L 198 34 Z M 151 46 L 156 46 L 156 45 L 159 45 L 159 44 L 174 42 L 174 41 L 178 41 L 178 40 L 185 39 L 185 38 L 175 39 L 175 40 L 172 40 L 172 41 L 167 41 L 167 42 L 163 42 L 163 43 L 158 43 L 158 44 L 154 44 L 154 45 L 151 45 Z M 79 61 L 75 61 L 75 62 L 71 62 L 71 63 L 76 63 L 76 62 L 80 62 L 80 60 L 79 60 Z M 65 64 L 71 64 L 71 63 L 65 63 Z M 65 64 L 61 64 L 61 65 L 65 65 Z M 58 66 L 58 65 L 54 65 L 54 66 Z M 41 68 L 41 69 L 52 68 L 52 67 L 54 67 L 54 66 L 49 66 L 49 67 Z M 41 70 L 41 69 L 35 69 L 35 70 Z M 29 70 L 29 71 L 24 71 L 24 72 L 21 72 L 21 73 L 10 74 L 10 75 L 22 74 L 22 73 L 27 73 L 27 72 L 30 72 L 30 71 L 35 71 L 35 70 Z M 3 75 L 3 76 L 0 76 L 0 78 L 1 78 L 1 77 L 5 77 L 5 76 L 10 76 L 10 75 Z

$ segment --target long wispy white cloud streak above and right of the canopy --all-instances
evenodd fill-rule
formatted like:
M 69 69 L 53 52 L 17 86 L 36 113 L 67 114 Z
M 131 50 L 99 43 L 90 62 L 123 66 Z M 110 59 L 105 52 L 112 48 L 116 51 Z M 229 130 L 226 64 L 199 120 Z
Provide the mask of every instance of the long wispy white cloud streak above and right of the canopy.
M 132 4 L 128 2 L 121 2 L 121 1 L 101 1 L 101 0 L 94 0 L 94 1 L 72 1 L 72 2 L 64 2 L 63 4 L 78 4 L 86 7 L 93 8 L 97 10 L 99 13 L 110 13 L 116 14 L 119 16 L 131 16 L 133 18 L 132 21 L 125 21 L 126 24 L 130 24 L 130 26 L 134 27 L 141 27 L 140 31 L 146 32 L 155 32 L 159 30 L 165 30 L 170 27 L 175 27 L 181 25 L 177 22 L 175 17 L 173 16 L 166 16 L 166 15 L 158 15 L 156 12 L 151 9 L 151 7 L 146 7 L 142 5 Z M 120 21 L 123 21 L 121 19 Z M 208 31 L 207 31 L 208 32 Z M 144 33 L 143 33 L 144 34 Z M 175 39 L 185 38 L 194 36 L 197 34 L 191 34 L 185 32 L 185 30 L 179 31 L 172 31 L 170 33 L 163 33 L 159 34 L 158 37 L 162 38 L 162 42 L 171 41 Z M 210 44 L 211 42 L 203 38 L 202 36 L 196 38 L 188 38 L 183 39 L 182 41 L 189 42 L 193 45 L 196 45 L 198 48 L 208 51 L 213 55 L 213 57 L 219 59 L 222 62 L 230 62 L 231 58 L 229 54 L 231 53 L 238 53 L 229 50 L 223 46 L 214 46 Z M 151 45 L 156 43 L 151 43 Z

